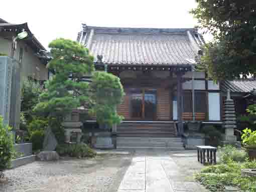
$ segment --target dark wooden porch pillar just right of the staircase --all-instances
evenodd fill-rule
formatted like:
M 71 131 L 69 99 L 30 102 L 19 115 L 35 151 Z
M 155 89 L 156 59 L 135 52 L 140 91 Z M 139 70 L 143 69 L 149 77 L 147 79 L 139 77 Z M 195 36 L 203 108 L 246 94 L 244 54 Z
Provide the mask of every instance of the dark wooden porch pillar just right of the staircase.
M 183 134 L 183 120 L 182 120 L 182 74 L 177 73 L 177 107 L 178 107 L 178 134 Z

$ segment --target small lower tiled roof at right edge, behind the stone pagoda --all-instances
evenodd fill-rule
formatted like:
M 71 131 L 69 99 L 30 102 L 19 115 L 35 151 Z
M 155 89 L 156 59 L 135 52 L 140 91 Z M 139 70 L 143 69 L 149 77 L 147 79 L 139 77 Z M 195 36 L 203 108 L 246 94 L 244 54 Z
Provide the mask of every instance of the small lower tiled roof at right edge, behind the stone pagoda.
M 223 91 L 229 89 L 230 92 L 239 93 L 250 92 L 253 88 L 256 89 L 256 80 L 253 79 L 223 81 L 221 85 L 221 90 Z

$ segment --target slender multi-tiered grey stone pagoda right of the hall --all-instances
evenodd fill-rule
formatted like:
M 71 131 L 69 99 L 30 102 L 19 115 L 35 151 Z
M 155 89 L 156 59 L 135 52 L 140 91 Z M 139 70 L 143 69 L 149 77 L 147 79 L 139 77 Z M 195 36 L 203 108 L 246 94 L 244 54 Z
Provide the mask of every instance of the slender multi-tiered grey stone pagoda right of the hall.
M 236 115 L 234 101 L 230 98 L 230 91 L 227 90 L 227 98 L 224 103 L 224 128 L 225 128 L 225 143 L 235 143 L 236 136 L 234 135 L 234 128 L 236 128 Z

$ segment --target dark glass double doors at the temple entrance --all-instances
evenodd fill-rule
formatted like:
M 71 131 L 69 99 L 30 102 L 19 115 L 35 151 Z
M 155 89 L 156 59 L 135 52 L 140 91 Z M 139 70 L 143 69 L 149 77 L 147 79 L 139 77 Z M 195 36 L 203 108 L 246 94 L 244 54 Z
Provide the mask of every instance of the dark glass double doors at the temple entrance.
M 137 120 L 155 120 L 157 116 L 156 89 L 131 89 L 132 118 Z

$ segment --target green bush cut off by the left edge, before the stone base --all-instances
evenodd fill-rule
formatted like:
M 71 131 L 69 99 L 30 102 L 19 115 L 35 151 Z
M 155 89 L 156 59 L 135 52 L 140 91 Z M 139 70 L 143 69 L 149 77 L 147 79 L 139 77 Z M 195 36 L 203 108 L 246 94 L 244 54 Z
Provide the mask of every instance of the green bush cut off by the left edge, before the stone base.
M 3 176 L 2 171 L 11 165 L 14 152 L 11 127 L 4 126 L 3 118 L 0 116 L 0 177 Z

